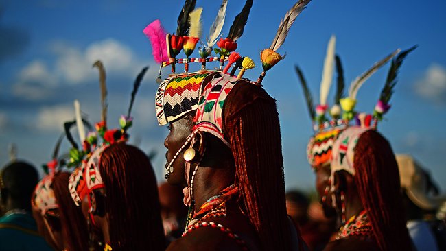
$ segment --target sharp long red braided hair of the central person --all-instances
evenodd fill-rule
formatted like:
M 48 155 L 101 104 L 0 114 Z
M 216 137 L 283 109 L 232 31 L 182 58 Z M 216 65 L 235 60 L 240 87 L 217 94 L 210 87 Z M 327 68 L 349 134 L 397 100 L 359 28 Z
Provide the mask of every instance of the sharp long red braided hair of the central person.
M 242 202 L 261 247 L 292 250 L 276 101 L 263 88 L 239 82 L 225 101 L 223 120 Z

